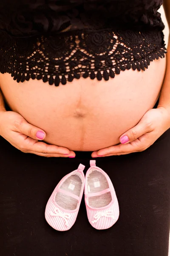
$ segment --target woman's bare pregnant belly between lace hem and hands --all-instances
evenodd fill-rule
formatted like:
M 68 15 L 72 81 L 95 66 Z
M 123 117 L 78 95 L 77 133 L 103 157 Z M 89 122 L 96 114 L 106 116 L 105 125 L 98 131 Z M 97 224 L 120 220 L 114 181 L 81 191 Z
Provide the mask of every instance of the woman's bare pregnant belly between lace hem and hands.
M 146 71 L 125 70 L 114 79 L 79 79 L 59 87 L 38 80 L 17 83 L 0 74 L 6 102 L 46 132 L 45 142 L 74 151 L 96 151 L 119 143 L 158 99 L 166 59 Z

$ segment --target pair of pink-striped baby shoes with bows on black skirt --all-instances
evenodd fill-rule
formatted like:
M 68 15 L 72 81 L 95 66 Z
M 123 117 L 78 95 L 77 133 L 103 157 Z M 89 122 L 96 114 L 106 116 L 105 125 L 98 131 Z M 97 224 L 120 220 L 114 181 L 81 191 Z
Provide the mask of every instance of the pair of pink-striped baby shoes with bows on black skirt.
M 86 175 L 81 163 L 77 170 L 60 180 L 45 208 L 45 219 L 55 230 L 69 230 L 75 223 L 85 191 L 85 205 L 90 224 L 108 229 L 119 218 L 119 204 L 109 176 L 90 160 Z

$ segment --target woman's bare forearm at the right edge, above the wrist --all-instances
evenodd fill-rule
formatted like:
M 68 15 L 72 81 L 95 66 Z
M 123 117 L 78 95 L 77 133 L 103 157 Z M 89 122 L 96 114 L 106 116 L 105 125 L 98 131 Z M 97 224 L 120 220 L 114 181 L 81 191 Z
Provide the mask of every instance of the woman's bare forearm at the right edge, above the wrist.
M 158 107 L 166 108 L 170 113 L 170 37 L 167 47 L 167 67 L 164 82 L 161 88 Z

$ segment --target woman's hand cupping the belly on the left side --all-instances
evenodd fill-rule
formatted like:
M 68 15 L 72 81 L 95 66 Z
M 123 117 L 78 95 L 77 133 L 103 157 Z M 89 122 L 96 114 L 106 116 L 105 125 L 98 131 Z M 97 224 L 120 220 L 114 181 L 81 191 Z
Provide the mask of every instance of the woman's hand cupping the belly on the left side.
M 42 139 L 37 137 L 42 133 L 44 133 Z M 70 151 L 68 148 L 39 141 L 45 139 L 45 131 L 29 124 L 23 116 L 13 111 L 0 111 L 0 136 L 24 153 L 43 157 L 75 156 L 74 151 Z

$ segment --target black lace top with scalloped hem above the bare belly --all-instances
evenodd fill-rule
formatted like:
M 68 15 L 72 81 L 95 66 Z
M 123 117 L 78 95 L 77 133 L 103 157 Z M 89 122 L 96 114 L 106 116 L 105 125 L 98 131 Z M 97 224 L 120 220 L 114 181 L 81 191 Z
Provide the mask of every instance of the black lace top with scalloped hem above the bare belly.
M 58 86 L 145 70 L 166 53 L 162 1 L 0 1 L 0 73 Z

